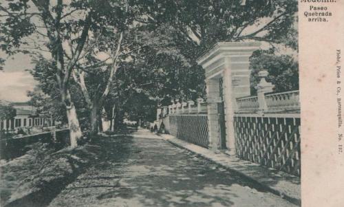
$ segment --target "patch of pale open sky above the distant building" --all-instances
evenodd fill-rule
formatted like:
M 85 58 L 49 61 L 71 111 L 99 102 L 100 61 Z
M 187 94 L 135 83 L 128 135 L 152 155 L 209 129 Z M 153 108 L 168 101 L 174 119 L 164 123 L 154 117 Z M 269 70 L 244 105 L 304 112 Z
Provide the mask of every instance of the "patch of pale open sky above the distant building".
M 0 56 L 5 58 L 6 54 L 0 51 Z M 3 71 L 0 71 L 0 100 L 29 100 L 27 91 L 34 89 L 36 81 L 25 69 L 32 67 L 30 56 L 25 54 L 17 54 L 6 60 Z

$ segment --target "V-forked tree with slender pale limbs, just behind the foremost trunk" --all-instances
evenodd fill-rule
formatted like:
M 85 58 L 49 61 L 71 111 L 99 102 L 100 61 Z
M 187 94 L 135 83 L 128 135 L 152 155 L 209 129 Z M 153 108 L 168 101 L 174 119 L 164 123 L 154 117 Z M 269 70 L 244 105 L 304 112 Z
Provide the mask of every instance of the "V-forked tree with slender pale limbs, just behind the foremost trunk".
M 119 32 L 117 43 L 115 44 L 113 43 L 113 38 L 110 38 L 110 41 L 102 36 L 100 39 L 103 39 L 103 41 L 100 42 L 97 39 L 96 45 L 100 48 L 90 52 L 85 56 L 85 60 L 80 60 L 72 72 L 74 82 L 79 85 L 90 111 L 89 121 L 92 134 L 98 132 L 99 111 L 102 109 L 105 98 L 109 94 L 111 83 L 118 69 L 118 56 L 120 54 L 123 33 L 123 31 Z M 109 35 L 115 36 L 116 34 Z M 105 45 L 106 43 L 109 45 Z M 105 52 L 100 52 L 99 49 L 108 50 L 110 55 L 107 56 Z M 96 58 L 97 54 L 101 56 L 100 60 Z

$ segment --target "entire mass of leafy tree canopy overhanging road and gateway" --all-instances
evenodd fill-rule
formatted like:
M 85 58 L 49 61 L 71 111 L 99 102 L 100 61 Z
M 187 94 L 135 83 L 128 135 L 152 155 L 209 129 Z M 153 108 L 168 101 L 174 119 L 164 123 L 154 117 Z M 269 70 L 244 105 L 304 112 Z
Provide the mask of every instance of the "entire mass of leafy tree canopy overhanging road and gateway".
M 8 55 L 32 56 L 31 73 L 49 96 L 32 91 L 32 104 L 57 104 L 54 114 L 65 109 L 75 141 L 79 120 L 90 116 L 96 130 L 105 105 L 110 115 L 144 102 L 131 116 L 149 117 L 137 111 L 171 98 L 205 98 L 204 69 L 195 60 L 219 41 L 297 50 L 296 12 L 296 0 L 8 0 L 0 4 L 0 44 Z M 292 56 L 258 51 L 250 67 L 252 85 L 266 68 L 277 91 L 298 88 Z

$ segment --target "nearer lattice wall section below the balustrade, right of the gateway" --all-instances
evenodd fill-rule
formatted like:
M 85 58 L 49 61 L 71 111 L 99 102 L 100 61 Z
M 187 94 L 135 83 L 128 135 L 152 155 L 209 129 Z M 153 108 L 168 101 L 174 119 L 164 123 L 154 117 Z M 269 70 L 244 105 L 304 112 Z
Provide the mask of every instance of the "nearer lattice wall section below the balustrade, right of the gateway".
M 235 117 L 237 155 L 300 176 L 300 118 Z

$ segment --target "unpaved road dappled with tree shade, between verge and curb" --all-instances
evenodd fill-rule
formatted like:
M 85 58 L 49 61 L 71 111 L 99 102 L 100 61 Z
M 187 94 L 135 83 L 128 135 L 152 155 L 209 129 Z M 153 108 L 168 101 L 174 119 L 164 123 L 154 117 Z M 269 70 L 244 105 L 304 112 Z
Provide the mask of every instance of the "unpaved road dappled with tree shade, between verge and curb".
M 99 161 L 50 206 L 294 206 L 150 133 L 99 142 Z

